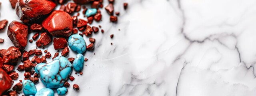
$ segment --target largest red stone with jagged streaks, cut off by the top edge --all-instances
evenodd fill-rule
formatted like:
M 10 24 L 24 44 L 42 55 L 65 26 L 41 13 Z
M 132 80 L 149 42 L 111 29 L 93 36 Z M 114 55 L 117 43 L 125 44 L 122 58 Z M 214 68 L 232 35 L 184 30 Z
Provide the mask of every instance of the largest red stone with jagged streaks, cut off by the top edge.
M 24 23 L 32 23 L 56 7 L 51 0 L 18 0 L 16 14 Z

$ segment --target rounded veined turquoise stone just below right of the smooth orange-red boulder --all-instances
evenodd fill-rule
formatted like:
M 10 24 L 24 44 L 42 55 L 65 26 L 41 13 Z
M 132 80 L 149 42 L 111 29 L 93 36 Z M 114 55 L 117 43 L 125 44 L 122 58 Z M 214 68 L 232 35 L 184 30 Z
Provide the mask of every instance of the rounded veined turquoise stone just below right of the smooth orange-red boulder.
M 71 48 L 71 50 L 77 53 L 83 54 L 86 51 L 86 43 L 84 38 L 78 34 L 69 36 L 68 46 Z

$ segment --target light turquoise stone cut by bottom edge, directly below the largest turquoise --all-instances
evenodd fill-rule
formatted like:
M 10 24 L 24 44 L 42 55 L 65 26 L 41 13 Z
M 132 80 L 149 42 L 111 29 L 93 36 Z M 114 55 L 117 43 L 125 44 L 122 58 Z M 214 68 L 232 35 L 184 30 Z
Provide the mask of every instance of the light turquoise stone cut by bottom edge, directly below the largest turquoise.
M 50 88 L 42 88 L 35 96 L 54 96 L 54 91 Z

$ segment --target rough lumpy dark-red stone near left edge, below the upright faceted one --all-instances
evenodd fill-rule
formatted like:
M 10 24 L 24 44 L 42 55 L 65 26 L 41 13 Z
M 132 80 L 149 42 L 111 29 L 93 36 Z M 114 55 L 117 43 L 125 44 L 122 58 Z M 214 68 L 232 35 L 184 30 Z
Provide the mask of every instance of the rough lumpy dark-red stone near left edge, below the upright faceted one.
M 4 54 L 4 64 L 16 65 L 20 57 L 21 53 L 19 48 L 11 46 L 7 49 L 6 53 Z

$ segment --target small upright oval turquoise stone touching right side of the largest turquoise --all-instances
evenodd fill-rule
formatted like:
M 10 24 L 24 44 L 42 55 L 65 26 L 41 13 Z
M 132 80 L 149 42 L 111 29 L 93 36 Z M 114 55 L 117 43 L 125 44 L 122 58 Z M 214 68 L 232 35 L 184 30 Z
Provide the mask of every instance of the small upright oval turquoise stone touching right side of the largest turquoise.
M 79 72 L 84 68 L 84 56 L 82 54 L 77 54 L 73 62 L 73 68 Z

